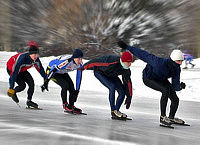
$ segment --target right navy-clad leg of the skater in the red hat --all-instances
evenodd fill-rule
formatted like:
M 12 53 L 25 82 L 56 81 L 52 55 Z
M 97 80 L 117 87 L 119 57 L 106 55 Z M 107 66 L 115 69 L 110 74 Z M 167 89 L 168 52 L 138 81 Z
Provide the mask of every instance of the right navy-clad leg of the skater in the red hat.
M 115 85 L 116 85 L 116 90 L 118 92 L 118 98 L 117 98 L 117 101 L 116 101 L 116 110 L 119 111 L 123 101 L 124 101 L 124 98 L 125 98 L 125 92 L 124 92 L 124 89 L 123 89 L 123 85 L 122 85 L 122 82 L 121 80 L 116 77 L 115 79 Z

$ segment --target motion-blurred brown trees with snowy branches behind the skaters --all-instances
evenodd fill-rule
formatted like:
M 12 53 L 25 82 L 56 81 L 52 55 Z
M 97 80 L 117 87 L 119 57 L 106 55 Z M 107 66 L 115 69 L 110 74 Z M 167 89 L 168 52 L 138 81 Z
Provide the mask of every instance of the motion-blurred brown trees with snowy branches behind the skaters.
M 123 39 L 159 56 L 167 57 L 174 48 L 199 56 L 197 1 L 15 0 L 0 4 L 4 20 L 0 45 L 10 39 L 11 50 L 26 51 L 33 40 L 42 55 L 72 53 L 81 47 L 86 58 L 94 58 L 119 54 L 117 41 Z M 4 24 L 10 33 L 2 31 Z

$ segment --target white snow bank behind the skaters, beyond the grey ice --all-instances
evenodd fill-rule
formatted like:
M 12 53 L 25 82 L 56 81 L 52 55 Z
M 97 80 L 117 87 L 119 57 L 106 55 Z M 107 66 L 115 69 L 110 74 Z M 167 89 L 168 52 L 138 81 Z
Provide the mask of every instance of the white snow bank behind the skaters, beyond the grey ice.
M 8 82 L 9 76 L 6 71 L 6 62 L 12 56 L 16 54 L 16 52 L 0 52 L 1 57 L 1 65 L 0 65 L 0 81 Z M 51 57 L 43 57 L 40 58 L 41 62 L 46 69 L 48 63 L 54 59 L 54 56 Z M 83 62 L 87 62 L 87 60 L 83 60 Z M 197 101 L 200 102 L 200 59 L 194 59 L 193 63 L 196 65 L 193 69 L 182 69 L 181 72 L 181 81 L 186 83 L 186 89 L 177 92 L 180 100 L 188 100 L 188 101 Z M 133 84 L 133 97 L 148 97 L 148 98 L 159 98 L 161 96 L 160 92 L 154 91 L 148 87 L 146 87 L 142 82 L 142 70 L 144 69 L 146 63 L 141 60 L 136 60 L 131 66 L 131 79 Z M 185 66 L 183 62 L 182 67 Z M 43 84 L 43 78 L 36 71 L 35 68 L 31 68 L 30 73 L 32 74 L 35 84 L 41 86 Z M 73 81 L 75 81 L 76 71 L 70 72 L 70 76 Z M 37 78 L 37 79 L 36 79 Z M 51 87 L 59 87 L 54 82 L 50 81 L 49 86 Z M 90 90 L 90 91 L 98 91 L 107 93 L 108 90 L 105 88 L 95 77 L 93 71 L 85 70 L 83 72 L 81 90 Z M 145 90 L 145 92 L 144 92 Z

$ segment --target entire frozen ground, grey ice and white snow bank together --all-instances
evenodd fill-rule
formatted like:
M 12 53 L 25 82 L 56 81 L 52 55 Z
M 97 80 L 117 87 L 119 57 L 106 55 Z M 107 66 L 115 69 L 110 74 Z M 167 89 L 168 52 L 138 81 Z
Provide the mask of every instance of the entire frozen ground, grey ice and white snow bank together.
M 88 115 L 64 113 L 60 88 L 50 83 L 49 92 L 42 93 L 39 86 L 43 80 L 37 72 L 32 73 L 34 68 L 30 69 L 36 84 L 33 101 L 43 110 L 26 109 L 27 90 L 18 93 L 22 107 L 19 108 L 6 95 L 9 79 L 6 62 L 14 54 L 0 53 L 1 145 L 200 145 L 200 61 L 196 60 L 194 69 L 182 71 L 181 81 L 187 88 L 178 92 L 180 105 L 176 116 L 191 126 L 174 125 L 175 129 L 169 129 L 159 126 L 161 94 L 143 84 L 141 74 L 145 64 L 141 61 L 131 68 L 134 88 L 131 108 L 126 110 L 122 105 L 120 109 L 133 120 L 118 121 L 110 118 L 107 89 L 87 71 L 75 105 Z M 42 58 L 45 67 L 51 59 Z

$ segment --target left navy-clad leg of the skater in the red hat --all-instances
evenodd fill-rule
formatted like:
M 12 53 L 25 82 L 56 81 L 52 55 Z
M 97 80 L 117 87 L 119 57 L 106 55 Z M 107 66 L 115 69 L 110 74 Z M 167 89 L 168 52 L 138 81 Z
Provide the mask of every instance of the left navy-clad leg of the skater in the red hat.
M 112 79 L 102 75 L 98 71 L 94 71 L 94 76 L 109 89 L 109 102 L 111 111 L 116 110 L 115 107 L 115 84 L 112 82 Z

